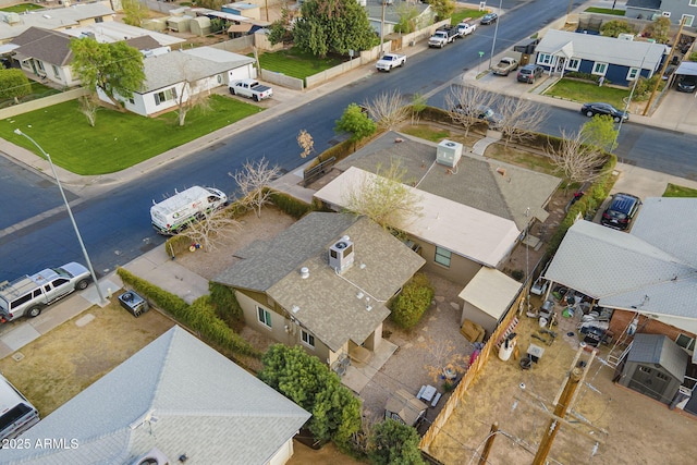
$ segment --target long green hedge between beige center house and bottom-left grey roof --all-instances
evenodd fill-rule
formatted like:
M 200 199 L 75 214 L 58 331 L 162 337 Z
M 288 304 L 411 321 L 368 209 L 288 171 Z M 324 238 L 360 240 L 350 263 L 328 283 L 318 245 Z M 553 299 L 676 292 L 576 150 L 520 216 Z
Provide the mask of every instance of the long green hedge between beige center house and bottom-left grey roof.
M 117 273 L 124 283 L 143 294 L 158 308 L 170 314 L 176 321 L 197 332 L 206 343 L 220 348 L 220 352 L 260 358 L 259 351 L 242 339 L 240 334 L 236 334 L 216 315 L 210 296 L 204 295 L 188 305 L 180 296 L 138 278 L 124 268 L 118 268 Z

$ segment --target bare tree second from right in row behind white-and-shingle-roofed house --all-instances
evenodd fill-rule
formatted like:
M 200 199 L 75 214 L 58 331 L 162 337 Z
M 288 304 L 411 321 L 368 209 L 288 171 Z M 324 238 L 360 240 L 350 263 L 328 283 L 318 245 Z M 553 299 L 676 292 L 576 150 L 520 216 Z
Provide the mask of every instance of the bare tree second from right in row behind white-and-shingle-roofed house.
M 505 137 L 506 147 L 510 142 L 530 137 L 539 130 L 549 113 L 546 106 L 510 96 L 503 98 L 499 105 L 499 112 L 503 118 L 498 130 Z

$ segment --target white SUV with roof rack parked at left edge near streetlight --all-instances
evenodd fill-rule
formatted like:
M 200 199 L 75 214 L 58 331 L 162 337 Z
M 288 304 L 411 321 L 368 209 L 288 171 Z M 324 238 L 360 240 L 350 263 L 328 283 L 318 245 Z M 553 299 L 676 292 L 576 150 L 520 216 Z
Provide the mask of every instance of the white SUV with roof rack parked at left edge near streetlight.
M 34 318 L 44 307 L 73 291 L 87 287 L 89 270 L 74 261 L 59 268 L 47 268 L 13 282 L 0 283 L 0 322 L 8 322 L 24 314 Z

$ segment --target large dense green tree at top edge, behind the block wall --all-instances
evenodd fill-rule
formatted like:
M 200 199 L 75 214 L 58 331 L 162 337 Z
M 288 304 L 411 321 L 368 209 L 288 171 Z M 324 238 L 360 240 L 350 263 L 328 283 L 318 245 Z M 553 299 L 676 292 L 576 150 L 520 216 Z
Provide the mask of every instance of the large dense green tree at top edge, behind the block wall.
M 355 0 L 307 0 L 293 27 L 295 46 L 316 57 L 346 56 L 378 44 L 366 10 Z

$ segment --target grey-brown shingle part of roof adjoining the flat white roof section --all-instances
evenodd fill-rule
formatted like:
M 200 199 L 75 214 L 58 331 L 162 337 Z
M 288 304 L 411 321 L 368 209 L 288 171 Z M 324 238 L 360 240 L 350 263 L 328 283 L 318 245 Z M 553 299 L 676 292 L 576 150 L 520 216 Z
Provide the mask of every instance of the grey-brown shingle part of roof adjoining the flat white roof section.
M 396 138 L 403 142 L 395 143 Z M 407 184 L 416 183 L 420 191 L 512 220 L 521 231 L 530 218 L 547 219 L 545 206 L 557 191 L 559 178 L 465 151 L 466 148 L 455 173 L 449 173 L 445 167 L 435 164 L 437 144 L 388 132 L 335 168 L 343 172 L 356 167 L 375 173 L 379 167 L 384 170 L 399 161 L 406 170 Z M 497 171 L 500 168 L 505 170 L 504 175 Z M 529 217 L 526 216 L 528 207 Z

